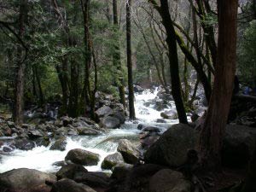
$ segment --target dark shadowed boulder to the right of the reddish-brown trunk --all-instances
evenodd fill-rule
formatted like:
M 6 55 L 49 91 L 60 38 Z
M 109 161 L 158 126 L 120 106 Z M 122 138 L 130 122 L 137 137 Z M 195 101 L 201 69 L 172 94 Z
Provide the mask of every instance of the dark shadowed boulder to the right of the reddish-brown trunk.
M 222 148 L 224 166 L 247 166 L 253 155 L 256 130 L 244 125 L 227 125 Z

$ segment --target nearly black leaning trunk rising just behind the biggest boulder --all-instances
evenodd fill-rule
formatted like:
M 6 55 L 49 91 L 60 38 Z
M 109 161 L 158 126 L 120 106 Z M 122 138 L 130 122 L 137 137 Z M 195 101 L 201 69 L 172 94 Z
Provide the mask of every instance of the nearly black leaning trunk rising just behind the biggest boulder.
M 169 5 L 167 0 L 160 0 L 160 7 L 154 0 L 149 0 L 154 4 L 155 9 L 159 12 L 162 18 L 162 24 L 166 28 L 166 43 L 169 48 L 169 62 L 172 84 L 172 96 L 177 108 L 177 116 L 180 123 L 188 124 L 187 115 L 183 105 L 183 97 L 181 90 L 181 82 L 179 78 L 178 59 L 177 59 L 177 44 L 174 26 L 172 25 L 172 18 L 169 12 Z

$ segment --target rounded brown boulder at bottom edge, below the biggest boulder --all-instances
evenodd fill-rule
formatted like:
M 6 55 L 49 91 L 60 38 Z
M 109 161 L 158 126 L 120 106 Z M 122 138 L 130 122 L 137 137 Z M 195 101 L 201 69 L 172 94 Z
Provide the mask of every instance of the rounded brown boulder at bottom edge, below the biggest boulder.
M 190 192 L 191 183 L 184 179 L 183 173 L 162 169 L 149 181 L 150 192 Z

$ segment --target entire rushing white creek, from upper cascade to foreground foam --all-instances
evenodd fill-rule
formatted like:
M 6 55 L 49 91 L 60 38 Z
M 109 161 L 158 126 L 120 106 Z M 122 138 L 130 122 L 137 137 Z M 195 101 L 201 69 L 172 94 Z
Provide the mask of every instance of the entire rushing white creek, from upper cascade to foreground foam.
M 100 136 L 68 137 L 65 151 L 49 150 L 50 145 L 49 147 L 36 147 L 28 151 L 15 149 L 10 153 L 2 154 L 0 172 L 7 172 L 11 169 L 21 167 L 37 169 L 42 172 L 56 172 L 60 169 L 60 166 L 54 166 L 53 164 L 56 161 L 64 160 L 67 152 L 73 148 L 83 148 L 100 154 L 101 160 L 97 166 L 85 167 L 91 172 L 102 171 L 102 160 L 108 154 L 116 152 L 119 139 L 126 138 L 134 143 L 139 143 L 138 134 L 140 131 L 137 130 L 139 123 L 159 125 L 161 127 L 177 123 L 177 120 L 170 120 L 167 124 L 156 123 L 157 119 L 161 119 L 161 112 L 155 110 L 153 105 L 150 104 L 145 107 L 144 103 L 154 99 L 157 93 L 158 90 L 155 89 L 154 91 L 144 90 L 143 93 L 135 95 L 136 122 L 126 121 L 119 129 L 109 130 Z M 171 104 L 172 107 L 169 107 L 169 109 L 176 110 L 175 107 L 173 107 L 174 104 L 172 102 Z

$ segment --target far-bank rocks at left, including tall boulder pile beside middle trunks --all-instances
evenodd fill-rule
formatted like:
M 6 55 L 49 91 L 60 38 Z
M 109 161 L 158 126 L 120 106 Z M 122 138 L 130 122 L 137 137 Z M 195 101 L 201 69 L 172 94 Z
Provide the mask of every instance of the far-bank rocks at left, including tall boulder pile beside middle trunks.
M 15 148 L 30 150 L 36 146 L 47 147 L 50 140 L 54 140 L 55 143 L 50 149 L 63 151 L 66 149 L 67 136 L 96 136 L 125 123 L 123 105 L 113 96 L 99 91 L 96 92 L 97 123 L 86 117 L 73 119 L 63 116 L 56 119 L 55 115 L 48 115 L 53 109 L 51 110 L 49 106 L 48 109 L 34 107 L 30 112 L 27 111 L 26 122 L 29 123 L 21 126 L 0 118 L 0 137 L 12 137 L 0 141 L 1 150 L 10 152 Z

